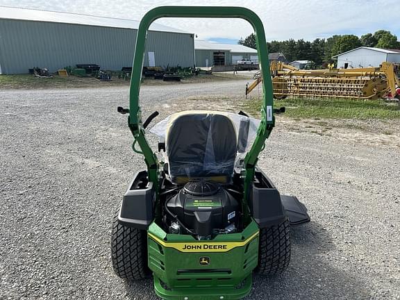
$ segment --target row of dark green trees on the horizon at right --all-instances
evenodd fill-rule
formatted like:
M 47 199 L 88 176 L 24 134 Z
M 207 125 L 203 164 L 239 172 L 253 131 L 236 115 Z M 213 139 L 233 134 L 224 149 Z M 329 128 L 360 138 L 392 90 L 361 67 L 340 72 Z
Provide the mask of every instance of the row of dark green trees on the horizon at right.
M 257 49 L 256 35 L 251 33 L 245 39 L 240 38 L 238 44 Z M 313 42 L 303 39 L 267 42 L 269 53 L 282 52 L 289 62 L 293 60 L 312 60 L 317 67 L 333 63 L 332 56 L 361 46 L 400 49 L 400 42 L 397 42 L 396 35 L 385 30 L 367 33 L 361 35 L 361 38 L 358 38 L 357 35 L 333 35 L 327 39 L 317 38 Z

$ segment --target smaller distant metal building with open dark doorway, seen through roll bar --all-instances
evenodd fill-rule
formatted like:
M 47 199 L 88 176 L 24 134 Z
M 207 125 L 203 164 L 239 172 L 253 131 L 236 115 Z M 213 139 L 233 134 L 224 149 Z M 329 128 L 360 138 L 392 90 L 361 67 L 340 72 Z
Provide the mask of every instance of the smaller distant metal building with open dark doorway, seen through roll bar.
M 194 40 L 196 67 L 236 65 L 238 60 L 248 59 L 258 63 L 257 50 L 240 44 L 220 44 Z

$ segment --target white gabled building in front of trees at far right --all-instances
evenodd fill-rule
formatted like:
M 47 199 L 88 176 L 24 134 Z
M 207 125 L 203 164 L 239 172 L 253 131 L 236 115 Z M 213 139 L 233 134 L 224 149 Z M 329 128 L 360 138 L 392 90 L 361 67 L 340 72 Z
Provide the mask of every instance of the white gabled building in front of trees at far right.
M 400 50 L 358 47 L 332 58 L 338 60 L 338 68 L 342 69 L 379 67 L 383 62 L 400 63 Z

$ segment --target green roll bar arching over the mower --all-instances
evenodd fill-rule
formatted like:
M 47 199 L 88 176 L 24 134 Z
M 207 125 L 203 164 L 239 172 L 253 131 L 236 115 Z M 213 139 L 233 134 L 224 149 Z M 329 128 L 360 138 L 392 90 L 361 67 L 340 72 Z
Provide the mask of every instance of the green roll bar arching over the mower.
M 264 99 L 261 111 L 261 122 L 256 139 L 254 140 L 250 151 L 244 158 L 244 169 L 246 170 L 246 178 L 244 181 L 244 203 L 247 203 L 249 189 L 251 188 L 251 182 L 254 178 L 258 154 L 263 150 L 265 140 L 269 137 L 275 123 L 272 80 L 268 72 L 269 60 L 263 22 L 261 22 L 256 13 L 247 8 L 219 6 L 160 6 L 147 12 L 140 21 L 131 74 L 128 126 L 135 138 L 135 142 L 138 142 L 140 149 L 142 149 L 148 169 L 149 181 L 153 182 L 153 185 L 155 185 L 156 192 L 158 192 L 158 159 L 156 153 L 151 150 L 149 143 L 144 136 L 145 133 L 144 128 L 142 127 L 142 116 L 139 106 L 139 92 L 147 31 L 150 24 L 161 17 L 241 18 L 247 20 L 253 26 L 254 32 L 256 33 L 258 62 L 261 65 L 261 69 L 265 72 L 262 72 Z M 244 211 L 245 215 L 248 215 L 248 213 L 249 212 Z

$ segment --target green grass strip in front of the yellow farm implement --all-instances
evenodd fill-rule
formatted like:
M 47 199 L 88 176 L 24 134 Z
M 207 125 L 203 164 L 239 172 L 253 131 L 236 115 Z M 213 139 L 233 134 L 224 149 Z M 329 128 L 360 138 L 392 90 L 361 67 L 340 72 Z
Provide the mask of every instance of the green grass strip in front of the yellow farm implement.
M 400 118 L 399 103 L 383 100 L 360 99 L 307 99 L 286 98 L 275 100 L 276 108 L 285 106 L 285 116 L 301 119 L 397 119 Z M 260 99 L 249 99 L 245 109 L 250 113 L 260 111 Z

